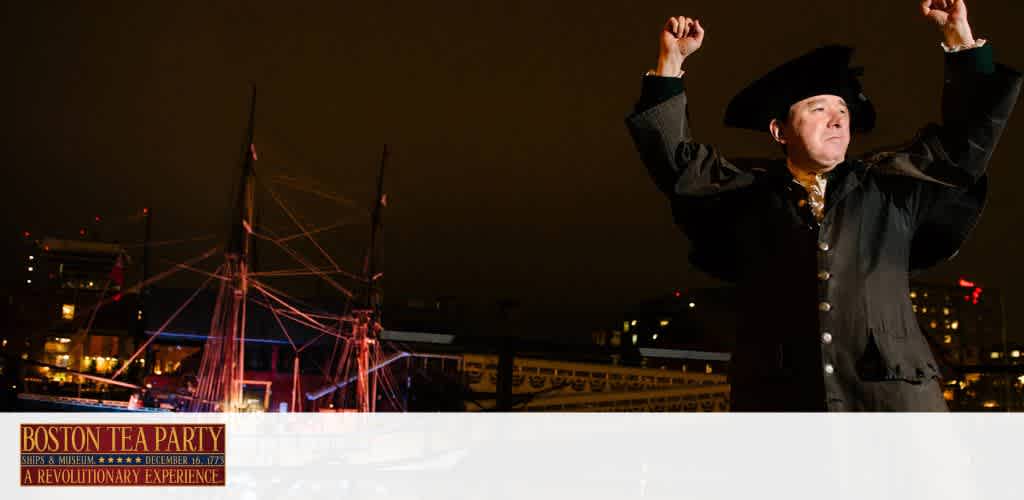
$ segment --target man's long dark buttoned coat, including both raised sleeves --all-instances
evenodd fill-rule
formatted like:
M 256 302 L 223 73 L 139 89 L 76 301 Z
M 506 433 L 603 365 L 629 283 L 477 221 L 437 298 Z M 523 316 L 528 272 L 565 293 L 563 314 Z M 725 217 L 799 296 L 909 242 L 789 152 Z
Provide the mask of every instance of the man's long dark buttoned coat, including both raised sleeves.
M 946 55 L 942 125 L 829 172 L 820 224 L 784 162 L 729 161 L 694 142 L 681 81 L 645 78 L 627 119 L 637 149 L 691 263 L 742 296 L 733 410 L 946 410 L 908 274 L 951 258 L 984 206 L 1021 87 L 990 54 Z

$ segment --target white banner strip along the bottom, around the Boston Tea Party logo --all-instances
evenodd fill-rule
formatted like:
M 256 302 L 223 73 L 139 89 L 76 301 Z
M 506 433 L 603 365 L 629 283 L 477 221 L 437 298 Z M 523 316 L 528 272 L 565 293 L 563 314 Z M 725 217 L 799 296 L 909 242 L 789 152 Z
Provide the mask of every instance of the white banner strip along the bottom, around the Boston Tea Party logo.
M 225 488 L 18 486 L 22 423 L 218 423 Z M 2 414 L 3 498 L 1020 499 L 1016 414 Z

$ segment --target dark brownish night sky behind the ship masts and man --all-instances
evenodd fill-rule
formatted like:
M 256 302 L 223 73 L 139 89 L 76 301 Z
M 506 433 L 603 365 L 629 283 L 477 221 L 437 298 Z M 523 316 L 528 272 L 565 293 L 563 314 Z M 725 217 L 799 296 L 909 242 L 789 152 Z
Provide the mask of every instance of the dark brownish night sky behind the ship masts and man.
M 255 82 L 263 179 L 315 179 L 369 207 L 381 147 L 391 144 L 388 295 L 606 310 L 715 285 L 689 268 L 623 124 L 670 14 L 707 29 L 687 64 L 691 116 L 698 139 L 726 154 L 776 153 L 767 134 L 721 125 L 729 96 L 828 42 L 858 48 L 879 108 L 877 131 L 855 137 L 854 153 L 902 142 L 938 118 L 940 37 L 914 0 L 207 3 L 4 3 L 8 241 L 26 230 L 71 235 L 99 213 L 105 237 L 137 242 L 140 227 L 123 217 L 141 206 L 155 210 L 156 240 L 222 239 Z M 1024 68 L 1024 4 L 970 7 L 997 59 Z M 1015 117 L 980 226 L 956 260 L 923 277 L 1005 289 L 1012 329 L 1024 328 L 1022 159 Z M 359 213 L 276 189 L 310 225 Z M 368 231 L 325 241 L 354 262 Z

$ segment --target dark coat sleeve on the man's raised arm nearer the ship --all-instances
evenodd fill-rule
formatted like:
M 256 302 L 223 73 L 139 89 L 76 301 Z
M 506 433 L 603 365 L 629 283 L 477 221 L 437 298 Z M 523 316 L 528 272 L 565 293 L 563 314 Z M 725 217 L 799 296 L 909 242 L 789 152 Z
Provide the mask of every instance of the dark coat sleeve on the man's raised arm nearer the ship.
M 645 77 L 640 100 L 626 125 L 644 166 L 672 203 L 676 223 L 690 240 L 690 262 L 716 278 L 733 282 L 728 231 L 740 207 L 735 195 L 751 186 L 754 174 L 726 160 L 712 145 L 693 140 L 681 79 Z

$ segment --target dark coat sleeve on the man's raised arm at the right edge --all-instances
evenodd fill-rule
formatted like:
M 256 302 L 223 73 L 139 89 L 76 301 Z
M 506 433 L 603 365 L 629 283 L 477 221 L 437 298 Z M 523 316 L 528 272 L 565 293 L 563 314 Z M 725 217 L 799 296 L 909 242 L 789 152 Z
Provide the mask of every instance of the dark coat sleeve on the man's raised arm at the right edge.
M 952 258 L 978 222 L 986 169 L 1021 89 L 1020 73 L 993 65 L 991 46 L 946 54 L 942 124 L 908 145 L 874 155 L 881 173 L 911 177 L 899 198 L 909 211 L 910 269 Z

